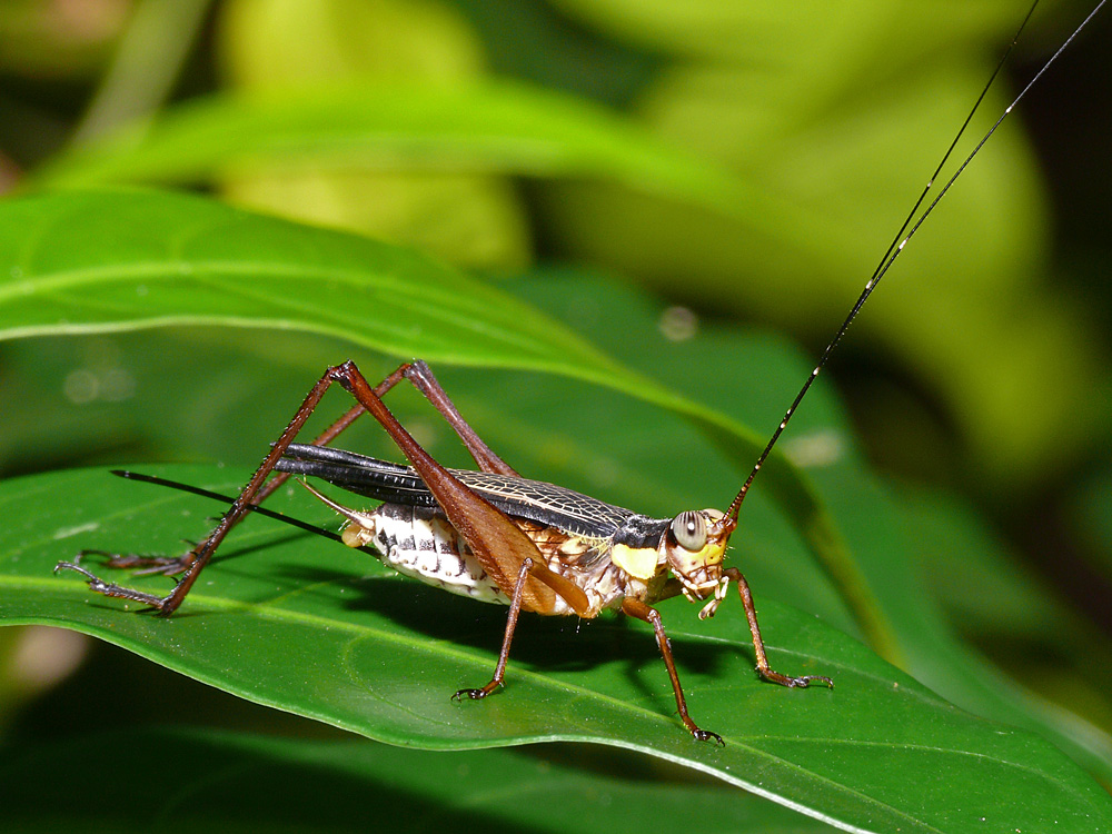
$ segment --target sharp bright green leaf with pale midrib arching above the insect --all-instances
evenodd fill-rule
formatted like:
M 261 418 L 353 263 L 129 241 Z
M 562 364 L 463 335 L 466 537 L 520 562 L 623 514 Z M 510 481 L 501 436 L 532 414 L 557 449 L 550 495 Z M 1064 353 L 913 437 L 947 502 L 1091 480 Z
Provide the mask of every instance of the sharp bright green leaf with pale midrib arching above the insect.
M 307 330 L 401 359 L 562 374 L 688 416 L 739 459 L 763 444 L 536 308 L 405 249 L 199 198 L 76 192 L 0 203 L 0 339 L 167 325 Z M 7 276 L 7 280 L 4 280 Z M 894 657 L 867 584 L 805 480 L 764 473 L 873 645 Z

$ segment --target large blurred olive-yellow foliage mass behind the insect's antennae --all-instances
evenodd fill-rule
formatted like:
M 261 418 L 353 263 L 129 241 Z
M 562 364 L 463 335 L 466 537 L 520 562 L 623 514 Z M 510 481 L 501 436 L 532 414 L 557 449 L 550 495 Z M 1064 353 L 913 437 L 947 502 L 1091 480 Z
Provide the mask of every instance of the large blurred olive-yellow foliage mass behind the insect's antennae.
M 876 0 L 836 10 L 566 6 L 683 54 L 642 96 L 646 126 L 776 195 L 792 207 L 777 219 L 816 245 L 781 248 L 726 216 L 564 182 L 543 193 L 549 239 L 694 307 L 759 310 L 813 340 L 864 285 L 1024 12 Z M 1004 87 L 953 162 L 1004 111 Z M 1045 274 L 1046 198 L 1014 121 L 909 246 L 886 281 L 898 286 L 854 328 L 944 401 L 965 443 L 962 469 L 972 466 L 997 499 L 1043 480 L 1099 427 L 1086 395 L 1101 374 L 1098 339 Z

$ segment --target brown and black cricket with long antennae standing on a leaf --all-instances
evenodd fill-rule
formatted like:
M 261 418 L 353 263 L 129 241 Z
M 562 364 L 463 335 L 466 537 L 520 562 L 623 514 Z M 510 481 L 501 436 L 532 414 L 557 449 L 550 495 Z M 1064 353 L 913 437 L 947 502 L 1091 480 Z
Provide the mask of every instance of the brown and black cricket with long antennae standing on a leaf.
M 522 610 L 593 618 L 604 610 L 619 609 L 653 626 L 672 681 L 676 707 L 687 729 L 697 739 L 721 744 L 722 738 L 716 733 L 701 728 L 688 715 L 671 644 L 661 615 L 652 606 L 663 599 L 683 595 L 689 602 L 703 604 L 701 618 L 711 617 L 726 597 L 732 583 L 737 587 L 745 607 L 753 635 L 756 669 L 761 676 L 787 687 L 807 687 L 813 683 L 833 687 L 831 678 L 824 675 L 785 675 L 774 671 L 768 663 L 748 584 L 737 568 L 723 565 L 729 536 L 737 527 L 742 502 L 812 383 L 877 281 L 1000 122 L 1011 112 L 1012 107 L 1103 4 L 1104 0 L 1101 0 L 916 218 L 931 183 L 957 142 L 955 138 L 954 145 L 943 157 L 931 182 L 895 236 L 893 245 L 826 346 L 818 364 L 784 414 L 725 513 L 717 509 L 692 509 L 673 518 L 651 518 L 564 487 L 525 479 L 479 439 L 425 363 L 406 363 L 377 386 L 373 386 L 356 365 L 348 361 L 325 371 L 239 497 L 231 503 L 231 507 L 203 542 L 179 557 L 100 554 L 107 557 L 106 564 L 109 567 L 180 574 L 180 580 L 168 595 L 160 597 L 106 583 L 76 562 L 59 563 L 56 570 L 77 570 L 97 593 L 141 603 L 151 606 L 159 614 L 170 615 L 181 605 L 232 527 L 291 474 L 311 475 L 351 493 L 383 502 L 375 509 L 357 510 L 337 504 L 308 487 L 314 495 L 347 519 L 342 533 L 345 544 L 353 547 L 373 545 L 379 552 L 381 560 L 399 573 L 451 593 L 509 606 L 494 676 L 480 688 L 458 691 L 454 695 L 457 699 L 465 695 L 475 699 L 484 698 L 502 685 Z M 1033 11 L 1034 6 L 1027 18 Z M 1026 23 L 1026 19 L 1023 23 Z M 1023 26 L 1020 31 L 1022 29 Z M 1014 46 L 1014 39 L 1012 43 Z M 976 110 L 976 106 L 973 110 Z M 972 112 L 970 116 L 972 117 Z M 967 123 L 969 120 L 965 125 Z M 959 138 L 962 131 L 959 132 Z M 403 379 L 425 395 L 455 430 L 475 459 L 477 471 L 443 467 L 387 409 L 381 398 Z M 350 393 L 356 405 L 312 444 L 294 443 L 332 383 L 338 383 Z M 328 446 L 364 413 L 369 413 L 381 424 L 410 466 L 377 460 Z

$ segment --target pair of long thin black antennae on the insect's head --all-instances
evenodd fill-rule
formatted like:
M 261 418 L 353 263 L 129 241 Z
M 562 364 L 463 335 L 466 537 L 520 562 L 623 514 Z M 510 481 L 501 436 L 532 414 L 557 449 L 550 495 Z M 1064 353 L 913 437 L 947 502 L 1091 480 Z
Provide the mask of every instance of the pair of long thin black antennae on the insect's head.
M 881 258 L 881 261 L 877 265 L 876 270 L 870 277 L 868 281 L 866 281 L 865 288 L 861 291 L 861 295 L 857 296 L 857 301 L 853 305 L 853 309 L 850 310 L 850 315 L 845 317 L 845 321 L 842 322 L 842 326 L 837 329 L 837 332 L 834 334 L 834 338 L 831 339 L 830 344 L 823 349 L 822 355 L 818 357 L 818 364 L 815 365 L 814 370 L 811 371 L 811 376 L 807 377 L 807 380 L 803 384 L 803 387 L 800 389 L 800 393 L 795 395 L 795 399 L 792 400 L 792 405 L 788 407 L 787 411 L 784 413 L 784 419 L 782 419 L 780 426 L 776 427 L 776 430 L 773 433 L 772 438 L 770 438 L 768 444 L 764 448 L 764 451 L 761 453 L 761 456 L 757 458 L 756 464 L 754 464 L 753 470 L 749 473 L 749 476 L 745 479 L 745 483 L 742 485 L 742 488 L 737 493 L 737 496 L 734 498 L 733 503 L 729 505 L 729 508 L 726 510 L 727 518 L 734 518 L 734 519 L 737 518 L 737 513 L 741 509 L 742 502 L 745 500 L 745 496 L 749 492 L 749 485 L 753 483 L 753 479 L 757 476 L 757 473 L 761 471 L 761 467 L 764 466 L 765 460 L 768 459 L 768 455 L 772 454 L 772 449 L 776 445 L 776 441 L 780 439 L 780 436 L 784 433 L 784 429 L 787 428 L 787 424 L 791 421 L 792 416 L 795 414 L 795 410 L 800 407 L 800 403 L 803 401 L 803 398 L 806 396 L 807 391 L 811 389 L 811 386 L 818 377 L 818 373 L 823 369 L 823 367 L 825 367 L 826 361 L 831 357 L 831 354 L 834 353 L 834 348 L 837 347 L 837 344 L 842 340 L 842 337 L 845 335 L 846 330 L 850 329 L 850 325 L 857 317 L 857 312 L 861 311 L 861 308 L 865 305 L 865 301 L 868 300 L 868 297 L 873 294 L 873 290 L 876 288 L 876 285 L 880 284 L 881 278 L 883 278 L 887 274 L 888 269 L 892 268 L 892 264 L 895 261 L 897 257 L 900 257 L 900 252 L 904 250 L 904 247 L 907 245 L 907 241 L 915 236 L 915 232 L 919 231 L 920 227 L 923 225 L 926 218 L 930 217 L 932 211 L 934 211 L 935 206 L 937 206 L 939 202 L 942 200 L 942 198 L 946 196 L 946 192 L 950 190 L 950 187 L 954 185 L 954 182 L 957 180 L 959 177 L 962 176 L 962 173 L 969 167 L 970 162 L 973 161 L 973 158 L 981 152 L 981 149 L 985 146 L 985 142 L 987 142 L 989 139 L 992 137 L 992 135 L 996 132 L 996 128 L 1001 126 L 1004 119 L 1007 118 L 1007 116 L 1012 112 L 1015 106 L 1019 105 L 1020 101 L 1023 99 L 1023 97 L 1027 95 L 1031 88 L 1039 82 L 1043 73 L 1046 72 L 1048 69 L 1050 69 L 1051 64 L 1053 64 L 1054 61 L 1058 60 L 1059 56 L 1061 56 L 1062 52 L 1065 51 L 1065 49 L 1070 46 L 1070 43 L 1073 42 L 1073 39 L 1076 38 L 1078 34 L 1081 32 L 1081 30 L 1083 30 L 1089 24 L 1089 21 L 1091 21 L 1096 16 L 1096 13 L 1101 10 L 1101 8 L 1104 6 L 1106 1 L 1108 0 L 1101 0 L 1096 4 L 1096 7 L 1089 13 L 1089 16 L 1084 20 L 1082 20 L 1081 23 L 1073 30 L 1070 37 L 1065 39 L 1065 41 L 1058 48 L 1058 50 L 1055 50 L 1054 54 L 1052 54 L 1050 59 L 1042 66 L 1042 68 L 1034 75 L 1034 77 L 1027 82 L 1026 87 L 1024 87 L 1020 91 L 1020 93 L 1013 99 L 1012 103 L 1004 109 L 1004 112 L 1000 116 L 1000 118 L 996 119 L 995 122 L 993 122 L 992 127 L 989 128 L 985 135 L 981 138 L 981 141 L 976 143 L 976 147 L 973 148 L 970 155 L 965 157 L 964 161 L 957 167 L 957 170 L 954 172 L 954 175 L 949 180 L 946 180 L 946 183 L 935 196 L 934 200 L 932 200 L 927 205 L 926 209 L 922 212 L 922 215 L 919 216 L 919 219 L 915 220 L 914 219 L 915 215 L 919 211 L 920 207 L 923 205 L 924 200 L 926 199 L 927 192 L 933 187 L 935 178 L 939 176 L 942 168 L 950 159 L 950 156 L 953 152 L 954 147 L 961 139 L 962 133 L 965 132 L 965 129 L 969 127 L 970 121 L 973 119 L 973 116 L 976 112 L 977 108 L 981 106 L 981 102 L 984 101 L 984 97 L 987 93 L 989 88 L 992 87 L 993 81 L 995 81 L 996 76 L 1000 73 L 1004 60 L 1006 60 L 1009 53 L 1015 47 L 1015 42 L 1019 40 L 1020 34 L 1026 27 L 1027 21 L 1031 20 L 1031 16 L 1034 13 L 1035 7 L 1039 6 L 1039 0 L 1035 0 L 1035 2 L 1031 6 L 1031 9 L 1027 11 L 1026 17 L 1023 18 L 1023 22 L 1020 24 L 1020 28 L 1016 30 L 1015 36 L 1012 38 L 1011 44 L 1005 50 L 1003 58 L 1001 59 L 1000 63 L 996 64 L 996 69 L 993 71 L 992 77 L 989 79 L 989 83 L 986 83 L 984 89 L 981 91 L 981 95 L 977 97 L 976 102 L 973 105 L 973 109 L 970 110 L 970 115 L 965 117 L 965 121 L 962 123 L 961 130 L 957 131 L 957 136 L 954 137 L 953 142 L 951 142 L 950 145 L 950 148 L 943 155 L 942 161 L 939 163 L 937 169 L 935 169 L 934 173 L 931 176 L 931 179 L 927 181 L 926 187 L 923 189 L 923 193 L 921 193 L 919 199 L 915 201 L 915 206 L 912 208 L 911 214 L 907 216 L 907 219 L 904 220 L 903 226 L 900 227 L 900 231 L 896 232 L 895 238 L 893 238 L 893 242 L 888 246 L 887 250 L 884 252 L 884 256 Z M 909 225 L 911 225 L 910 230 L 907 228 Z M 906 231 L 907 234 L 904 235 L 904 231 Z

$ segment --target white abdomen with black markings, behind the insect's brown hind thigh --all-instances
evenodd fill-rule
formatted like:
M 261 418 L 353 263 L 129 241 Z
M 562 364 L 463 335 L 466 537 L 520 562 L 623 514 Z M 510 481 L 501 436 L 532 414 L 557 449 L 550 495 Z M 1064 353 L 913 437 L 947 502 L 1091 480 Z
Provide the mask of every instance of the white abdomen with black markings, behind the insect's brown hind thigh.
M 453 594 L 509 604 L 443 515 L 399 504 L 384 504 L 367 515 L 375 522 L 370 540 L 385 565 Z

